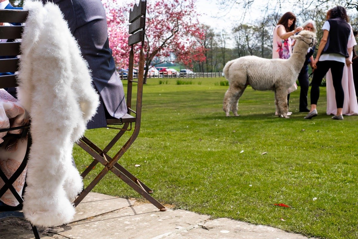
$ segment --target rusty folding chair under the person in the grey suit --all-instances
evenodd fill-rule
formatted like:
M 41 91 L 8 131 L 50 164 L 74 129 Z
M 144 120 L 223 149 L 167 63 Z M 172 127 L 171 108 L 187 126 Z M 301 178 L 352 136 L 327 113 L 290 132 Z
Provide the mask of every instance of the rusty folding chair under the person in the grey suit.
M 127 109 L 128 112 L 121 119 L 107 119 L 107 127 L 110 129 L 119 130 L 115 137 L 108 143 L 108 145 L 101 149 L 95 145 L 91 140 L 83 137 L 78 145 L 86 150 L 93 157 L 93 162 L 84 170 L 82 177 L 88 176 L 88 173 L 97 165 L 101 163 L 103 165 L 102 171 L 92 180 L 89 185 L 84 188 L 77 199 L 74 201 L 74 205 L 77 206 L 84 197 L 92 190 L 93 187 L 106 175 L 107 172 L 112 171 L 121 180 L 126 182 L 135 191 L 142 195 L 145 199 L 151 202 L 154 206 L 158 207 L 160 211 L 165 211 L 166 208 L 155 200 L 149 193 L 152 193 L 149 187 L 142 183 L 138 178 L 128 172 L 122 167 L 118 160 L 123 156 L 127 149 L 132 145 L 139 134 L 141 123 L 141 110 L 142 110 L 142 94 L 143 94 L 143 75 L 144 75 L 144 35 L 145 35 L 145 14 L 146 14 L 146 0 L 140 0 L 139 4 L 135 4 L 133 10 L 130 10 L 129 15 L 129 34 L 128 44 L 131 46 L 129 53 L 129 71 L 128 71 L 128 86 L 127 86 Z M 133 67 L 134 67 L 134 46 L 141 44 L 141 51 L 139 53 L 139 70 L 138 81 L 133 80 Z M 135 110 L 132 107 L 132 87 L 133 83 L 137 83 L 137 95 Z M 133 128 L 134 125 L 134 128 Z M 118 143 L 118 140 L 124 135 L 131 133 L 129 139 L 122 145 L 121 149 L 111 157 L 108 155 L 108 151 L 112 149 L 114 145 Z

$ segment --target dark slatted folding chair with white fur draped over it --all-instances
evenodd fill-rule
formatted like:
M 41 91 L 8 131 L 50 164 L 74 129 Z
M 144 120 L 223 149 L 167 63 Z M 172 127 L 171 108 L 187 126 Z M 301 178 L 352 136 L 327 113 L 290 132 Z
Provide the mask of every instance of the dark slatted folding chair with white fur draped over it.
M 1 9 L 0 23 L 23 23 L 26 20 L 27 15 L 28 15 L 27 10 Z M 23 26 L 20 25 L 0 26 L 0 39 L 20 39 L 22 32 L 23 32 Z M 16 56 L 18 56 L 19 54 L 20 54 L 20 42 L 0 43 L 0 56 L 1 56 L 0 72 L 2 73 L 6 72 L 8 74 L 8 75 L 0 76 L 0 88 L 6 89 L 9 87 L 17 86 L 15 72 L 18 70 L 19 59 Z M 4 181 L 4 186 L 0 188 L 0 197 L 3 196 L 6 191 L 10 190 L 10 192 L 14 195 L 14 197 L 20 204 L 15 207 L 6 206 L 6 205 L 0 206 L 0 219 L 11 218 L 11 217 L 24 218 L 23 213 L 18 211 L 22 208 L 23 198 L 22 195 L 19 195 L 19 193 L 15 190 L 13 184 L 15 180 L 24 171 L 27 164 L 29 147 L 31 144 L 31 138 L 30 135 L 28 135 L 29 124 L 26 124 L 24 126 L 12 127 L 8 129 L 1 129 L 0 133 L 9 132 L 11 130 L 17 130 L 17 129 L 23 129 L 22 134 L 14 135 L 8 133 L 5 137 L 8 137 L 8 139 L 11 137 L 18 137 L 18 138 L 28 137 L 26 154 L 19 168 L 13 173 L 13 175 L 10 178 L 8 178 L 5 175 L 5 173 L 0 169 L 0 178 L 1 180 Z M 32 230 L 34 232 L 35 238 L 39 239 L 40 235 L 38 233 L 36 226 L 32 225 Z

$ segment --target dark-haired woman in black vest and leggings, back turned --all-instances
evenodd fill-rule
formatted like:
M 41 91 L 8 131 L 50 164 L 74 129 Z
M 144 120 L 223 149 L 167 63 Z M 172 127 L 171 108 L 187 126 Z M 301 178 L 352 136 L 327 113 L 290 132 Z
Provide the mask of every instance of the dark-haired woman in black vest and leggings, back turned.
M 350 66 L 347 44 L 350 39 L 350 25 L 347 23 L 348 16 L 345 8 L 336 6 L 330 9 L 329 19 L 325 21 L 322 30 L 323 37 L 319 43 L 318 51 L 312 66 L 315 68 L 311 87 L 311 109 L 305 119 L 317 116 L 317 101 L 319 99 L 319 86 L 323 77 L 330 69 L 332 82 L 337 103 L 337 113 L 332 119 L 343 120 L 342 109 L 344 102 L 344 91 L 342 87 L 342 76 L 344 64 Z

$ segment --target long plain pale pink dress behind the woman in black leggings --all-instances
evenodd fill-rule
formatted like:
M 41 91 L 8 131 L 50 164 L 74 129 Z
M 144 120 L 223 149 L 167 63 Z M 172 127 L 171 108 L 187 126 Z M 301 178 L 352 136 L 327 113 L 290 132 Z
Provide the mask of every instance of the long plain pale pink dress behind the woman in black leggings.
M 350 31 L 350 39 L 348 40 L 347 48 L 354 47 L 357 45 L 355 41 L 353 31 Z M 352 61 L 353 52 L 350 54 L 350 60 Z M 353 82 L 353 70 L 352 64 L 347 67 L 344 66 L 342 76 L 342 87 L 344 91 L 344 102 L 343 102 L 343 115 L 358 115 L 358 104 L 357 98 L 355 97 L 354 82 Z M 337 114 L 337 104 L 335 101 L 335 91 L 333 88 L 332 73 L 331 70 L 326 75 L 326 90 L 327 90 L 327 114 Z

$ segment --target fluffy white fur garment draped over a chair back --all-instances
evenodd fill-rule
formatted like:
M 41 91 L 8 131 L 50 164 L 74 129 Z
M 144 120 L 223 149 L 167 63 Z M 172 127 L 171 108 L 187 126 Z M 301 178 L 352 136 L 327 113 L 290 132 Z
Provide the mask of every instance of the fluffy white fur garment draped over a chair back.
M 96 113 L 98 95 L 87 62 L 57 5 L 26 1 L 17 96 L 29 112 L 32 146 L 24 215 L 33 225 L 68 223 L 82 178 L 72 165 L 74 142 Z

